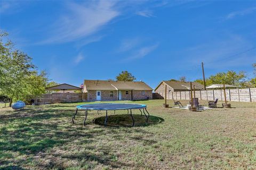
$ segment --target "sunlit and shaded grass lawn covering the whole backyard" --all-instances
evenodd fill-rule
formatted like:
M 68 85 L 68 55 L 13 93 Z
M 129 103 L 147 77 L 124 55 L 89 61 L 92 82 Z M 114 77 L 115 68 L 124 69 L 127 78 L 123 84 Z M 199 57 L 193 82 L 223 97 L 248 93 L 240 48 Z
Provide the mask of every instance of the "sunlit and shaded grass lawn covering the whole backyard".
M 147 104 L 151 122 L 134 111 L 135 127 L 104 128 L 92 121 L 105 113 L 89 112 L 84 127 L 84 112 L 71 120 L 78 103 L 0 108 L 0 169 L 256 169 L 256 103 L 189 112 L 124 102 Z

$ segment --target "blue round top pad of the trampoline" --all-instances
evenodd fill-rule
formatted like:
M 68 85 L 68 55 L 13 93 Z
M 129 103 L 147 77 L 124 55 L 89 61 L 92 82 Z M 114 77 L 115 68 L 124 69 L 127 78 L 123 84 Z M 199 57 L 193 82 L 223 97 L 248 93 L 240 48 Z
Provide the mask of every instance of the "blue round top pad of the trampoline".
M 147 105 L 125 104 L 125 103 L 101 103 L 101 104 L 78 105 L 76 106 L 76 108 L 87 109 L 87 110 L 114 111 L 114 110 L 127 110 L 127 109 L 143 109 L 143 108 L 147 108 Z

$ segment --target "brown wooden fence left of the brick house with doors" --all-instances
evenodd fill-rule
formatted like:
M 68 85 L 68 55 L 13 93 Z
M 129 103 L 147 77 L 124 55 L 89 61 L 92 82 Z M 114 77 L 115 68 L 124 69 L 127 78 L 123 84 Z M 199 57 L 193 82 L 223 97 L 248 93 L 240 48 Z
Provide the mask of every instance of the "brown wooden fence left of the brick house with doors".
M 71 103 L 87 99 L 87 93 L 54 93 L 37 96 L 34 100 L 37 105 L 52 103 Z

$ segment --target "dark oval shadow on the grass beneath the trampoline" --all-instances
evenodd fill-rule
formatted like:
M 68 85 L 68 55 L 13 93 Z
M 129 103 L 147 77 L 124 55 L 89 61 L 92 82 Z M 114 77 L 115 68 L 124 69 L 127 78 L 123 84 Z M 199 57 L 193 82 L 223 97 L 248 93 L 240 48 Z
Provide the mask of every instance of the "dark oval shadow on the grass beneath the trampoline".
M 162 117 L 152 116 L 150 115 L 148 118 L 148 122 L 146 122 L 147 118 L 145 115 L 132 115 L 134 119 L 134 126 L 148 126 L 152 124 L 158 124 L 164 121 Z M 105 117 L 101 116 L 94 119 L 94 123 L 103 126 L 105 123 Z M 131 115 L 122 114 L 122 115 L 109 115 L 107 126 L 109 127 L 132 127 L 132 117 Z

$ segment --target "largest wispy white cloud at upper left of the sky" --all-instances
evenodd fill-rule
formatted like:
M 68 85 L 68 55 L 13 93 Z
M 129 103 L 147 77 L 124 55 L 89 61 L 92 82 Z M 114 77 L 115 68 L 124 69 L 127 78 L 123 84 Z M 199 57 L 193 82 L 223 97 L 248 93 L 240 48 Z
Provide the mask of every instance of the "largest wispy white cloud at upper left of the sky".
M 51 28 L 51 37 L 39 44 L 65 43 L 91 36 L 116 18 L 115 1 L 68 3 L 68 9 Z

